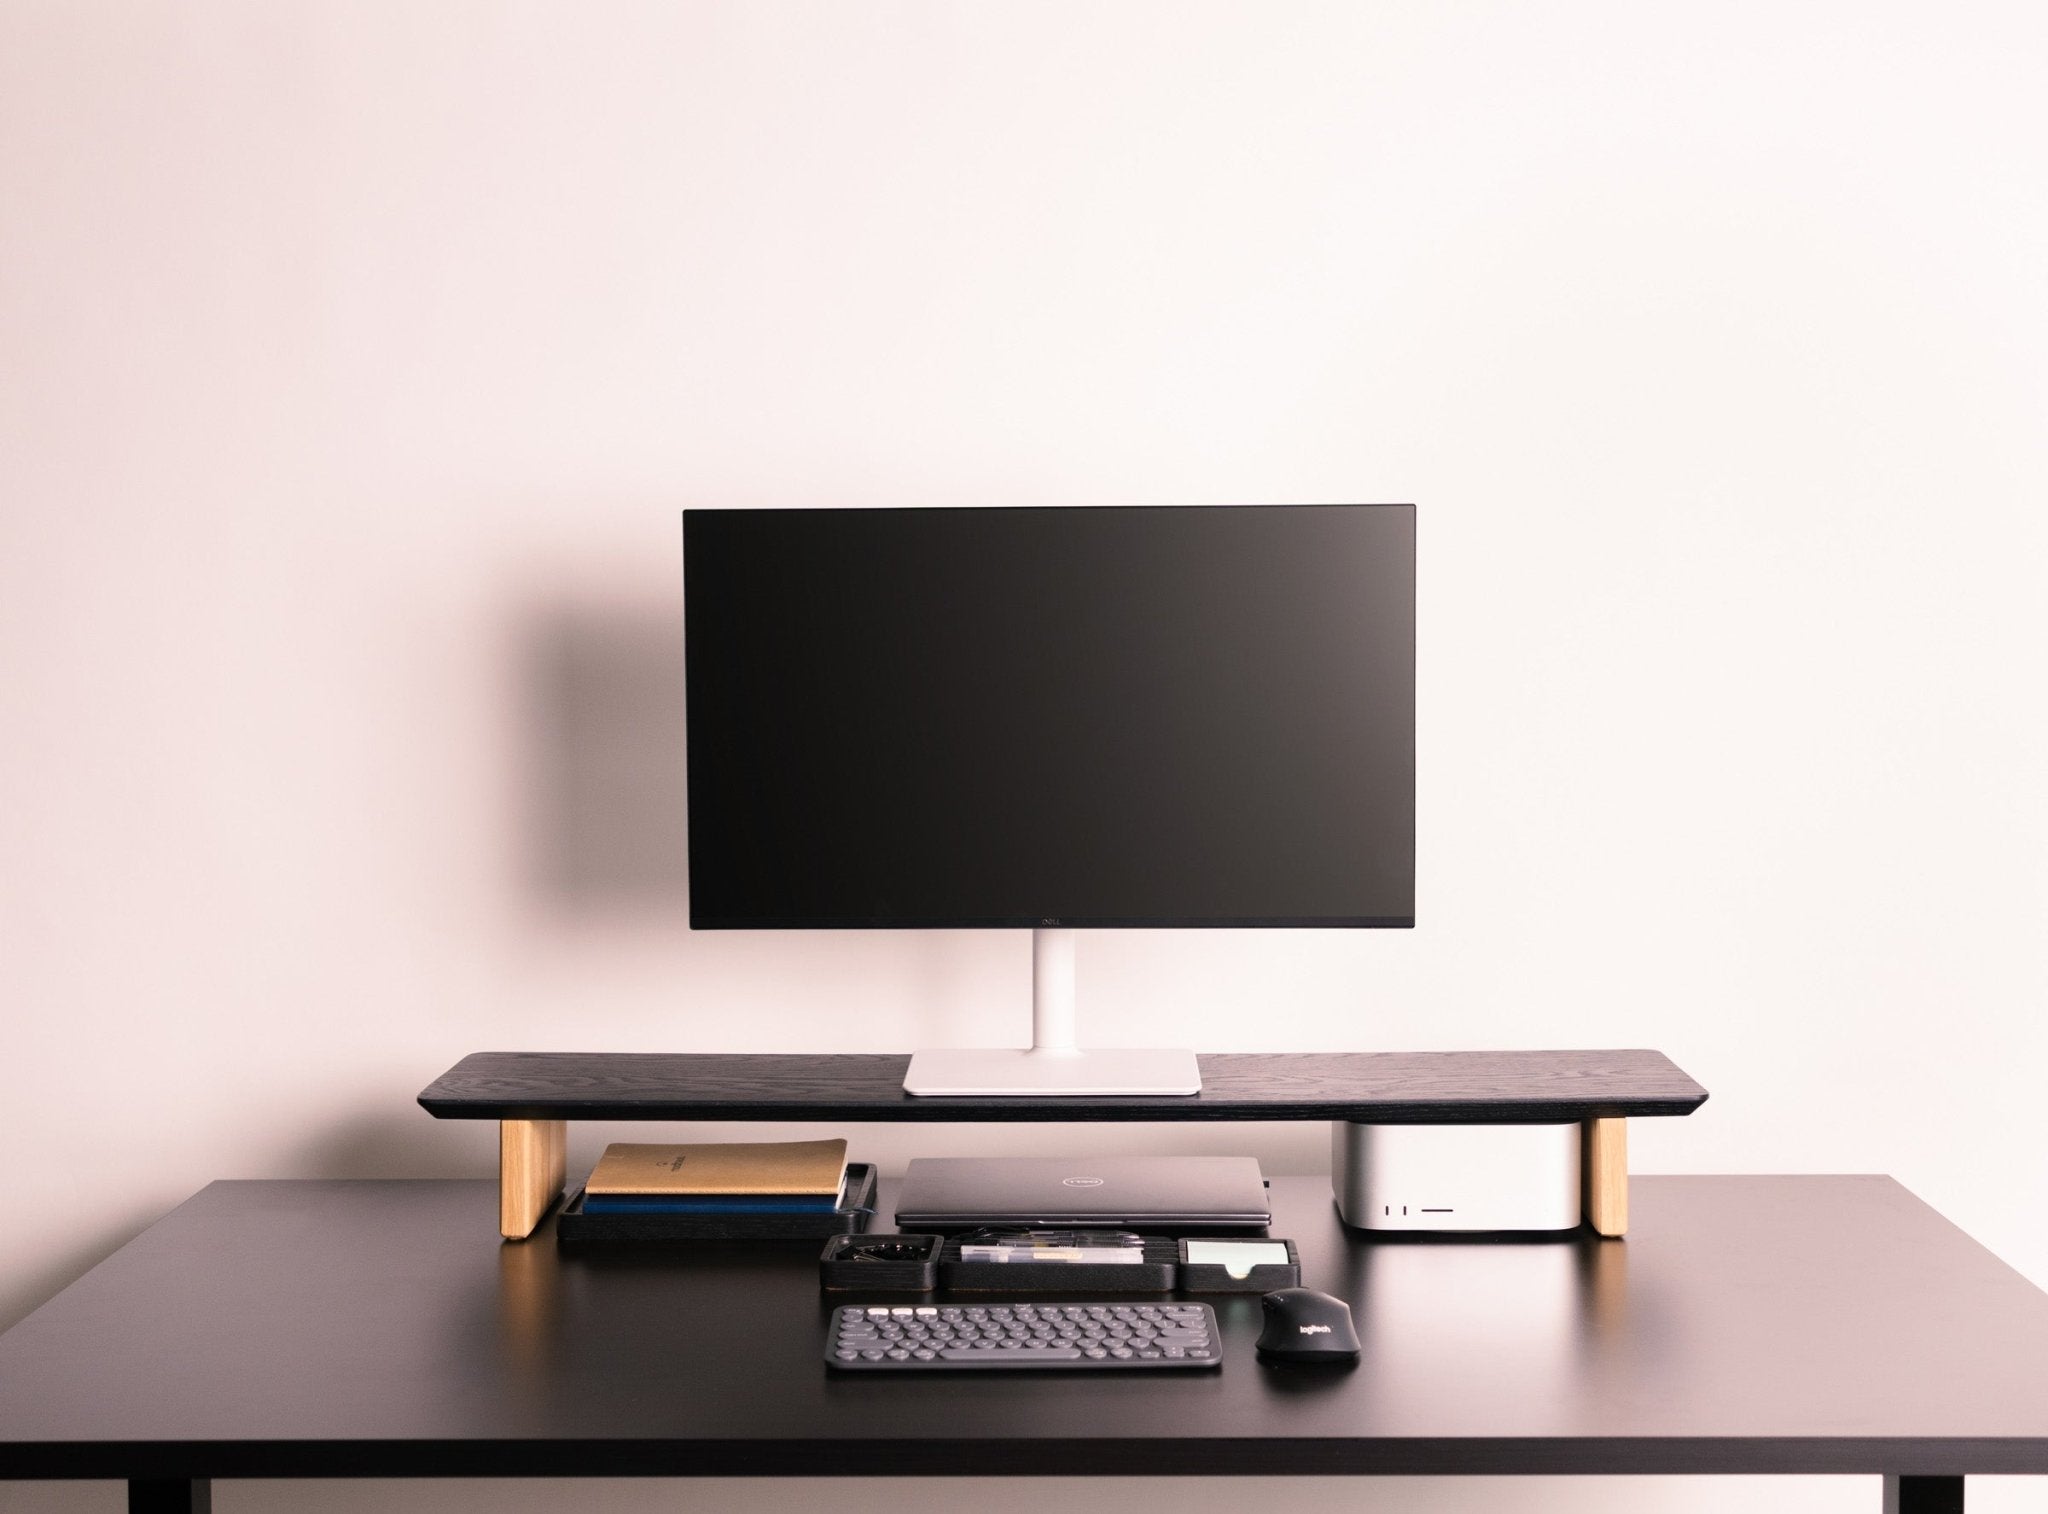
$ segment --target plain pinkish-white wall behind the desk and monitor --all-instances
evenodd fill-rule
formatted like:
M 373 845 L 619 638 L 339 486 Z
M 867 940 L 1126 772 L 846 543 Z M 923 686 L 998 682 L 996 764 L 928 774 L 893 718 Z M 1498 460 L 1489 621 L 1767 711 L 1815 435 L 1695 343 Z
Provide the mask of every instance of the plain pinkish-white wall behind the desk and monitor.
M 1714 1098 L 1638 1168 L 1894 1172 L 2048 1285 L 2044 66 L 2028 4 L 0 0 L 0 1323 L 217 1176 L 487 1172 L 412 1102 L 473 1049 L 1012 1037 L 1001 934 L 686 930 L 686 504 L 1415 500 L 1419 928 L 1092 936 L 1087 1022 L 1661 1047 Z M 1729 1489 L 1292 1506 L 1567 1494 Z

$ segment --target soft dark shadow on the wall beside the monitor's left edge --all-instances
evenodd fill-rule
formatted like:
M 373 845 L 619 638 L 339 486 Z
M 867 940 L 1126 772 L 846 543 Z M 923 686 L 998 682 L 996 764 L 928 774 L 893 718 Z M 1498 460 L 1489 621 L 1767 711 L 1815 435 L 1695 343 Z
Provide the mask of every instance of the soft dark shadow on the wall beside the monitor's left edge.
M 686 914 L 682 617 L 549 608 L 522 629 L 518 680 L 543 908 Z

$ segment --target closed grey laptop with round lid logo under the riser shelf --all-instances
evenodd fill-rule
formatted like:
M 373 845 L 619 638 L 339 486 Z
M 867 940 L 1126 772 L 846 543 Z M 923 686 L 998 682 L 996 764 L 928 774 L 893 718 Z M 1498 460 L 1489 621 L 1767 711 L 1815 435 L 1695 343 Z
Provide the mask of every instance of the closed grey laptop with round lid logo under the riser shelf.
M 913 1158 L 899 1229 L 1272 1223 L 1257 1158 Z

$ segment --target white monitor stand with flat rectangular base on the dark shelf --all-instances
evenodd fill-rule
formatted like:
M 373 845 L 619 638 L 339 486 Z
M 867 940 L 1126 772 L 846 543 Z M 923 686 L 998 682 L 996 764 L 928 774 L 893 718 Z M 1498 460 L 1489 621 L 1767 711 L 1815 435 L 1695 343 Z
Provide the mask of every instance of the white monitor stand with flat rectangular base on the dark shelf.
M 1081 1051 L 1073 1045 L 1073 930 L 1030 932 L 1030 1051 L 920 1051 L 905 1094 L 985 1098 L 1200 1094 L 1192 1051 Z

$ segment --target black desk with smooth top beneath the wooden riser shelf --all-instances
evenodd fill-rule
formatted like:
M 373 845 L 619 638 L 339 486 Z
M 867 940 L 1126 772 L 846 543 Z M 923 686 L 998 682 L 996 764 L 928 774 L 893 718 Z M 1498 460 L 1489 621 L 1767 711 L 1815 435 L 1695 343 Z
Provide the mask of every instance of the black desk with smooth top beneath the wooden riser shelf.
M 1640 1178 L 1626 1242 L 1274 1233 L 1350 1375 L 840 1379 L 815 1246 L 489 1239 L 492 1182 L 219 1182 L 0 1336 L 0 1477 L 2048 1473 L 2048 1295 L 1888 1178 Z M 848 1295 L 862 1301 L 862 1295 Z M 834 1299 L 838 1301 L 838 1299 Z

